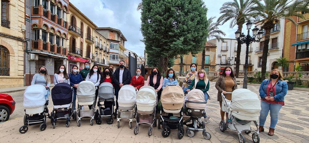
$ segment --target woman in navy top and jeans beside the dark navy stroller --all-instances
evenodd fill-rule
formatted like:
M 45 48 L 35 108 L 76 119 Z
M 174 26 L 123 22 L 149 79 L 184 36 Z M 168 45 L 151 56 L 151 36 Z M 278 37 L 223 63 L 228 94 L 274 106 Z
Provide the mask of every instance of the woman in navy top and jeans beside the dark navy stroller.
M 70 77 L 70 85 L 73 87 L 73 110 L 76 109 L 75 102 L 76 102 L 76 90 L 77 86 L 80 82 L 83 81 L 82 75 L 77 72 L 78 67 L 76 65 L 72 66 L 72 72 L 69 74 Z

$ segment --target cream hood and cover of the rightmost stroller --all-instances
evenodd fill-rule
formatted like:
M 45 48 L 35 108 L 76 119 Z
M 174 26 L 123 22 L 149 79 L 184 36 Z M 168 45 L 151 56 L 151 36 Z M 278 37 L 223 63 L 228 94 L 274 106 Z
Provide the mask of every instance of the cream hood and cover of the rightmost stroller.
M 232 93 L 230 111 L 241 120 L 258 120 L 261 110 L 257 94 L 248 89 L 236 89 Z

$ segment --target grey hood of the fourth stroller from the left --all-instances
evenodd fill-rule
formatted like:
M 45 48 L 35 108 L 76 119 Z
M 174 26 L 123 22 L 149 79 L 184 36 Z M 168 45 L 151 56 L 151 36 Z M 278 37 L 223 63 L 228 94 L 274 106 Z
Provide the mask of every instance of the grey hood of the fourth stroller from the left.
M 114 87 L 109 82 L 103 82 L 99 86 L 99 98 L 102 99 L 113 99 L 114 98 Z

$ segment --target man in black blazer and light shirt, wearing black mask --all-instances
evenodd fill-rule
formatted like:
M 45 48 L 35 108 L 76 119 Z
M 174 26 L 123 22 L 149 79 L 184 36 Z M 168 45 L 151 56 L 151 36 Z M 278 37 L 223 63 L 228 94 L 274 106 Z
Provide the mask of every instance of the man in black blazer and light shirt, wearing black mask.
M 113 74 L 113 82 L 114 82 L 114 87 L 115 87 L 115 96 L 116 96 L 116 111 L 115 115 L 118 110 L 118 93 L 119 90 L 122 86 L 124 85 L 129 85 L 131 82 L 131 73 L 129 69 L 125 67 L 125 61 L 120 61 L 119 62 L 119 67 L 117 68 Z

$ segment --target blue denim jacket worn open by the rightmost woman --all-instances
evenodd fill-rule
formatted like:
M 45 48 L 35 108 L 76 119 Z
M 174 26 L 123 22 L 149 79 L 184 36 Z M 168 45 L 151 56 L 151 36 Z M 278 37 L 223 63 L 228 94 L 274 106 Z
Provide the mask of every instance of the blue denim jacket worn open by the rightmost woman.
M 270 82 L 270 79 L 266 79 L 266 80 L 263 80 L 263 82 L 261 83 L 260 89 L 259 89 L 261 98 L 265 98 L 267 96 L 266 89 L 267 89 L 269 82 Z M 288 91 L 288 85 L 286 81 L 278 80 L 276 84 L 276 91 L 275 91 L 276 95 L 273 98 L 275 99 L 275 101 L 284 101 L 284 97 L 286 96 L 287 91 Z

